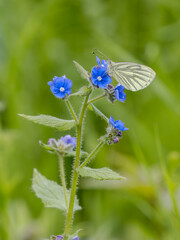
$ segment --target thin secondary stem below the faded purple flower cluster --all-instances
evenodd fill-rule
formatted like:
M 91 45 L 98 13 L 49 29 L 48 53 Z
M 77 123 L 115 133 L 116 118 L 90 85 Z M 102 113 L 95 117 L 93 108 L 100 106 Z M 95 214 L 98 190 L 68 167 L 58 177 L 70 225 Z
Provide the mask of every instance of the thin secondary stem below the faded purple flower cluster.
M 59 168 L 60 168 L 60 179 L 64 191 L 64 197 L 66 202 L 66 207 L 68 209 L 68 196 L 67 196 L 67 188 L 66 188 L 66 177 L 64 171 L 64 161 L 63 161 L 63 154 L 59 153 Z

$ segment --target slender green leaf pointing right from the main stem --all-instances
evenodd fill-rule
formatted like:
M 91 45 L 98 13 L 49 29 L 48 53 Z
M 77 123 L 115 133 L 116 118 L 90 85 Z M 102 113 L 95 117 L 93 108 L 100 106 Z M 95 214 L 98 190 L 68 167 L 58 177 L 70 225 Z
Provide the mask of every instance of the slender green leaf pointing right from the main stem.
M 89 167 L 78 168 L 81 177 L 90 177 L 97 180 L 123 180 L 125 177 L 120 176 L 118 173 L 109 168 L 93 169 Z

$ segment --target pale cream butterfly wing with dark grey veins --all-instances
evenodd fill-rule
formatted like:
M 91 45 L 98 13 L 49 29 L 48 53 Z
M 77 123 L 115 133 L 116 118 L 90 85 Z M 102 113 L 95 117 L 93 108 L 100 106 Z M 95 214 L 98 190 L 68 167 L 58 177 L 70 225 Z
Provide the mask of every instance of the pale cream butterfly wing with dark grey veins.
M 131 91 L 138 91 L 147 87 L 156 76 L 156 73 L 150 67 L 129 62 L 114 63 L 108 61 L 108 73 Z

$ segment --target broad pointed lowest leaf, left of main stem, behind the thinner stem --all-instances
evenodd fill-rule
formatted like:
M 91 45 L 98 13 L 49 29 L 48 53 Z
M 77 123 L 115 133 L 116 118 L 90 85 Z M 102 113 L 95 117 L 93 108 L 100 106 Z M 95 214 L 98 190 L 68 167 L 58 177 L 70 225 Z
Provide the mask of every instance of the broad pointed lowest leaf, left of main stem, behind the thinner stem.
M 33 172 L 32 189 L 36 196 L 42 200 L 45 207 L 58 208 L 66 211 L 66 202 L 63 188 L 56 182 L 47 179 L 36 169 Z M 67 190 L 68 198 L 70 198 L 70 190 Z M 74 211 L 80 210 L 78 199 L 75 199 Z

